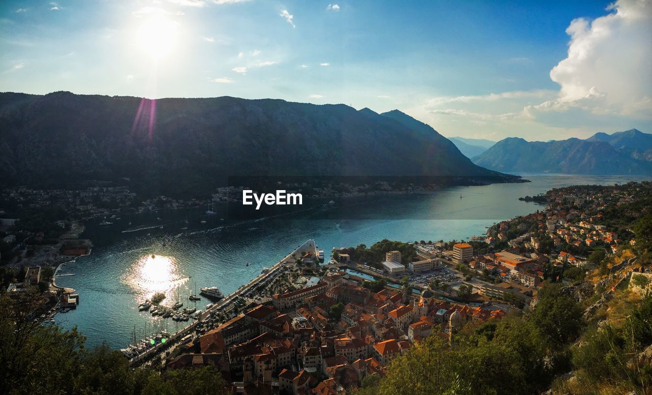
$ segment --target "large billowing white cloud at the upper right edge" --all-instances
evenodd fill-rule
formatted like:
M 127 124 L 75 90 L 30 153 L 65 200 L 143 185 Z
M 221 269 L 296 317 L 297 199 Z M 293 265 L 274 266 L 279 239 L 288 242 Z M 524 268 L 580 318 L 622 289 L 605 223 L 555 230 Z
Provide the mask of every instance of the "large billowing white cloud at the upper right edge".
M 652 118 L 652 1 L 618 0 L 610 14 L 573 20 L 568 57 L 550 71 L 559 96 L 533 107 Z

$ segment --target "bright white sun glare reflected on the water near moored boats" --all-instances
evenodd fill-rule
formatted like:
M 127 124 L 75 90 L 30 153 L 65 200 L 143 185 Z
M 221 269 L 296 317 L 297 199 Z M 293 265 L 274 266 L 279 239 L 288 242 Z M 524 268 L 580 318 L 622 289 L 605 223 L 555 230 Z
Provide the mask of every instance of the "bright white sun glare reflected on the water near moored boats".
M 188 281 L 188 277 L 180 277 L 177 260 L 172 256 L 144 255 L 130 267 L 122 280 L 136 292 L 139 303 L 163 292 L 166 299 L 161 304 L 169 305 L 174 303 L 171 299 L 174 299 L 175 291 Z

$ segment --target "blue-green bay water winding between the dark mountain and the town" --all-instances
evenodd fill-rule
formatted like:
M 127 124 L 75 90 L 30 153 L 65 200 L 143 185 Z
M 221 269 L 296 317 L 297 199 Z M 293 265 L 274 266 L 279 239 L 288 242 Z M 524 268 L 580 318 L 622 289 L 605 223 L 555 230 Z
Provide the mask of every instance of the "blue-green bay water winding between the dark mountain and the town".
M 383 238 L 468 239 L 481 236 L 497 221 L 542 208 L 522 202 L 519 197 L 565 185 L 650 179 L 563 175 L 526 178 L 532 182 L 353 200 L 347 208 L 320 208 L 246 223 L 220 221 L 216 215 L 205 215 L 203 209 L 123 216 L 111 220 L 114 224 L 110 226 L 87 224 L 82 237 L 93 240 L 92 254 L 63 267 L 63 273 L 74 276 L 57 279 L 58 285 L 78 290 L 80 305 L 57 315 L 57 321 L 64 328 L 76 325 L 87 336 L 88 344 L 104 341 L 111 347 L 124 347 L 131 342 L 134 327 L 140 337 L 159 327 L 172 332 L 187 325 L 138 312 L 138 303 L 154 292 L 166 293 L 164 304 L 173 304 L 179 295 L 185 306 L 190 305 L 188 294 L 195 287 L 218 286 L 225 294 L 233 292 L 256 277 L 261 267 L 272 266 L 306 239 L 315 239 L 326 252 L 326 260 L 333 247 L 372 245 Z M 358 219 L 346 219 L 351 210 Z M 143 230 L 123 232 L 137 226 Z M 197 308 L 203 309 L 207 303 L 202 299 Z

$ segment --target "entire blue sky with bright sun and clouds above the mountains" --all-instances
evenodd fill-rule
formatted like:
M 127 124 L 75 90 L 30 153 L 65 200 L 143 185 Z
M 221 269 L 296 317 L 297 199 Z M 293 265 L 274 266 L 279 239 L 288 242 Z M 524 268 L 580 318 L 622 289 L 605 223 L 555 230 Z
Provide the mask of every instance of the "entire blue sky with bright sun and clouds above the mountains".
M 445 136 L 652 133 L 652 0 L 0 3 L 0 91 L 399 109 Z

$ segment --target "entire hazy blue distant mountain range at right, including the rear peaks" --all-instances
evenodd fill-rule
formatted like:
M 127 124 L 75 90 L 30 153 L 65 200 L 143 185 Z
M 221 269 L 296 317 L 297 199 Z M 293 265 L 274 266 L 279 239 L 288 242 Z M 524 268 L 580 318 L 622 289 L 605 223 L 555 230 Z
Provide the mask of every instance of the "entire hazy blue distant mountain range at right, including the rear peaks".
M 502 172 L 652 175 L 651 159 L 652 135 L 631 129 L 546 143 L 510 137 L 473 163 Z

